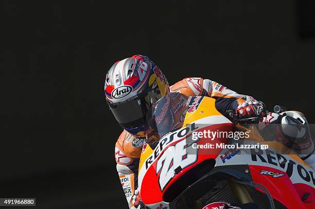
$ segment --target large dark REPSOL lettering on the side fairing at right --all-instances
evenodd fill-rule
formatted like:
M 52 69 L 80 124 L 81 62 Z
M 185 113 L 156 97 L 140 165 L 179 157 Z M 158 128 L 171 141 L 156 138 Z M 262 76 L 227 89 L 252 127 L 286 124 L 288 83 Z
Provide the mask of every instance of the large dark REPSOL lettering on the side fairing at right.
M 311 168 L 306 168 L 305 165 L 293 161 L 293 159 L 288 160 L 285 156 L 274 153 L 269 149 L 251 149 L 251 152 L 253 162 L 257 162 L 259 165 L 269 164 L 271 167 L 283 170 L 289 178 L 300 178 L 306 184 L 314 187 L 315 178 Z

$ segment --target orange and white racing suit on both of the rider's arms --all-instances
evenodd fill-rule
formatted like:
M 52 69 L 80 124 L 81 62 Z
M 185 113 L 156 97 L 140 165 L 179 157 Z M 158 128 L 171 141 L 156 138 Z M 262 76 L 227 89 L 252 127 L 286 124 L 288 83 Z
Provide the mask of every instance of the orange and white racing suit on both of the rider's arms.
M 189 96 L 207 96 L 216 99 L 216 108 L 223 115 L 227 110 L 232 110 L 240 115 L 244 111 L 253 112 L 252 108 L 257 101 L 252 97 L 238 94 L 225 86 L 202 78 L 186 78 L 170 87 L 171 92 L 180 92 Z M 246 108 L 244 108 L 246 107 Z M 115 145 L 115 159 L 120 183 L 124 189 L 130 208 L 137 208 L 141 203 L 138 193 L 137 176 L 139 158 L 145 139 L 135 138 L 126 130 L 120 134 Z

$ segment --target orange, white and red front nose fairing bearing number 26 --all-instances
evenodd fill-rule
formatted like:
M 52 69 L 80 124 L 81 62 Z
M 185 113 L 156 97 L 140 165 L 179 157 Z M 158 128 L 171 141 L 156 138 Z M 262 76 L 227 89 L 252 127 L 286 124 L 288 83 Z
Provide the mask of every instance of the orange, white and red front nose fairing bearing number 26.
M 193 100 L 195 97 L 191 98 Z M 196 97 L 198 98 L 198 97 Z M 181 129 L 173 131 L 167 134 L 166 137 L 162 137 L 159 144 L 155 147 L 154 150 L 151 149 L 150 146 L 146 146 L 144 150 L 140 165 L 139 165 L 139 175 L 138 175 L 138 184 L 140 188 L 141 198 L 142 201 L 149 205 L 158 202 L 163 202 L 163 194 L 166 189 L 171 185 L 173 182 L 176 182 L 178 178 L 180 178 L 183 174 L 190 170 L 192 167 L 196 166 L 197 164 L 201 163 L 206 159 L 215 159 L 217 155 L 220 153 L 220 150 L 217 150 L 217 153 L 213 153 L 211 155 L 202 154 L 199 155 L 199 150 L 196 149 L 197 153 L 189 153 L 186 157 L 183 157 L 181 160 L 187 161 L 187 163 L 181 164 L 179 169 L 176 170 L 178 167 L 174 167 L 174 163 L 178 160 L 171 160 L 176 159 L 177 156 L 174 155 L 176 153 L 174 149 L 178 147 L 183 148 L 186 145 L 186 142 L 189 137 L 191 137 L 191 128 L 193 124 L 195 124 L 195 131 L 203 131 L 203 130 L 222 130 L 222 131 L 232 131 L 233 124 L 230 120 L 225 118 L 221 115 L 219 111 L 215 108 L 215 100 L 211 98 L 203 98 L 202 100 L 198 100 L 200 103 L 198 104 L 198 108 L 194 109 L 186 113 L 184 125 Z M 204 102 L 206 101 L 206 102 Z M 210 103 L 210 105 L 209 105 Z M 187 126 L 185 125 L 187 124 Z M 188 125 L 189 124 L 189 125 Z M 222 125 L 224 124 L 224 125 Z M 184 129 L 189 129 L 187 134 L 184 137 L 179 137 L 178 133 L 183 132 Z M 190 131 L 190 132 L 189 132 Z M 179 136 L 178 136 L 179 135 Z M 172 136 L 173 139 L 170 143 L 167 144 L 169 141 L 165 142 L 164 138 Z M 191 139 L 190 139 L 191 140 Z M 227 141 L 228 139 L 216 139 L 221 141 Z M 219 141 L 212 141 L 212 143 L 217 143 Z M 199 139 L 197 142 L 198 144 L 206 144 L 209 142 L 209 139 Z M 165 145 L 167 144 L 167 145 Z M 160 148 L 163 147 L 161 151 Z M 171 148 L 174 147 L 174 148 Z M 182 150 L 182 149 L 181 149 Z M 179 152 L 177 152 L 179 153 Z M 163 163 L 159 160 L 163 158 Z M 185 159 L 184 159 L 185 158 Z M 192 159 L 190 161 L 190 159 Z M 189 161 L 189 162 L 188 162 Z M 162 169 L 163 164 L 166 162 L 167 169 Z M 180 163 L 179 163 L 180 164 Z M 162 168 L 161 168 L 162 167 Z M 158 168 L 158 169 L 156 169 Z M 163 176 L 161 175 L 163 174 Z M 166 174 L 166 175 L 164 175 Z M 161 177 L 162 176 L 162 177 Z M 166 179 L 164 181 L 164 179 Z M 164 182 L 162 182 L 164 181 Z M 167 181 L 167 182 L 166 182 Z M 162 182 L 162 183 L 161 183 Z M 145 186 L 143 186 L 145 185 Z

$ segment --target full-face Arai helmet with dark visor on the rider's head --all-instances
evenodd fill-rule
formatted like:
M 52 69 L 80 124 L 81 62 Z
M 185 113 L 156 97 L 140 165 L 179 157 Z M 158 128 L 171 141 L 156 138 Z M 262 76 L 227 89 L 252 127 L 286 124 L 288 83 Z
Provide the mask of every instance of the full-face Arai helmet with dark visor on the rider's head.
M 144 55 L 118 61 L 106 74 L 110 109 L 120 126 L 135 137 L 146 136 L 146 113 L 168 91 L 164 74 Z

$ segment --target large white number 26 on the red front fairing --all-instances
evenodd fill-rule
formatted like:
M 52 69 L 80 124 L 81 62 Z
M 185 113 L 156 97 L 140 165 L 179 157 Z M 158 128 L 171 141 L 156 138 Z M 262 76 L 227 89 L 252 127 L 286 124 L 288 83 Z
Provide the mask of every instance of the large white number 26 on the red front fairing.
M 190 145 L 189 145 L 190 146 Z M 156 175 L 160 173 L 159 185 L 164 190 L 168 182 L 175 176 L 175 169 L 179 166 L 184 169 L 197 161 L 198 149 L 190 148 L 187 153 L 186 140 L 169 146 L 156 163 Z

